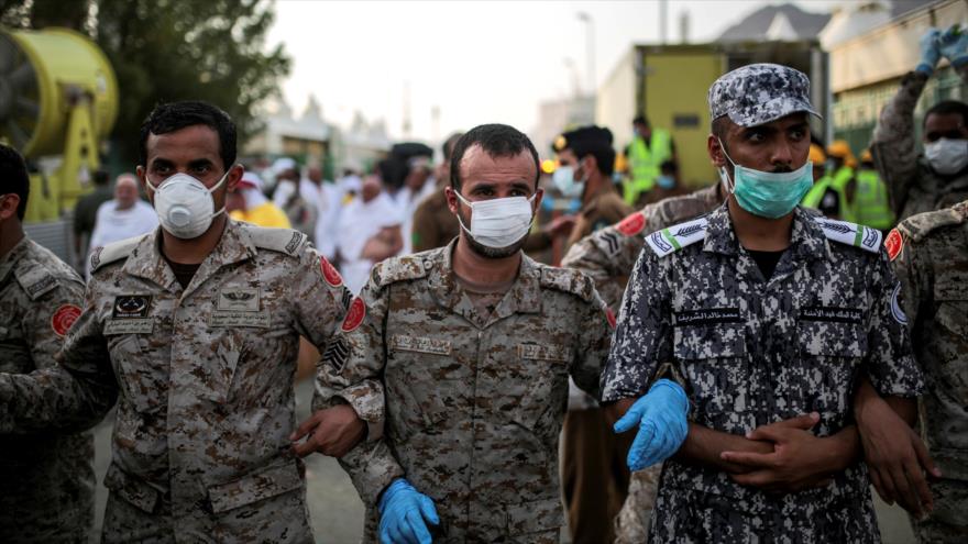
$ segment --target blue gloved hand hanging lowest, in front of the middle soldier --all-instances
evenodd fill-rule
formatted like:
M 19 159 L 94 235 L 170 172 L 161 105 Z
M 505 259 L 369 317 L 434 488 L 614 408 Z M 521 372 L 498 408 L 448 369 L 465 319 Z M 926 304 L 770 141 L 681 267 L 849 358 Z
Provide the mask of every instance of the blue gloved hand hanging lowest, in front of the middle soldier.
M 395 479 L 380 499 L 380 542 L 430 544 L 432 539 L 425 520 L 440 523 L 433 501 L 404 478 Z

